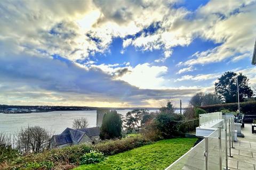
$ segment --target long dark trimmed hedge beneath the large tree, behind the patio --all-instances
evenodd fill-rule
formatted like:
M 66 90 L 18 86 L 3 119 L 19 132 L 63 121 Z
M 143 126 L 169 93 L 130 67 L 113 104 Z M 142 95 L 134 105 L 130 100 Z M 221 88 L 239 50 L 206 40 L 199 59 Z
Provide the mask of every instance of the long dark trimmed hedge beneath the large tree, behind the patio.
M 207 113 L 210 112 L 220 112 L 223 109 L 228 109 L 229 111 L 237 111 L 237 103 L 227 103 L 227 104 L 218 104 L 218 105 L 208 105 L 201 106 L 200 108 L 204 109 Z M 256 115 L 256 101 L 246 101 L 240 103 L 240 112 L 247 115 Z

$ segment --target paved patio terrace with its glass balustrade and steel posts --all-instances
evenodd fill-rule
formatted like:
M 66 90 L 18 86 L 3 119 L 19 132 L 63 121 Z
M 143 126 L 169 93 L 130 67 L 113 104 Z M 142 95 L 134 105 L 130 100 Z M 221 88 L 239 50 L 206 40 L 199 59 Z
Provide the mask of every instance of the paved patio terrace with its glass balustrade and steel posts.
M 196 131 L 203 140 L 165 170 L 256 168 L 256 135 L 251 133 L 250 124 L 245 124 L 242 130 L 245 138 L 237 138 L 236 142 L 232 115 L 209 113 L 201 115 L 199 120 Z

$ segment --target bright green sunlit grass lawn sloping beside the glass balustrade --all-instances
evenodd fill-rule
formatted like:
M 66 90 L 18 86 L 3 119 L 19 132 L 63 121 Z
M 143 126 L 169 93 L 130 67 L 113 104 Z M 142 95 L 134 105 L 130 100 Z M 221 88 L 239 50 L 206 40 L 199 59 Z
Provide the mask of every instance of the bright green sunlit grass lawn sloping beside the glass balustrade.
M 176 138 L 155 142 L 109 156 L 98 164 L 81 165 L 82 169 L 148 170 L 164 169 L 193 147 L 196 138 Z

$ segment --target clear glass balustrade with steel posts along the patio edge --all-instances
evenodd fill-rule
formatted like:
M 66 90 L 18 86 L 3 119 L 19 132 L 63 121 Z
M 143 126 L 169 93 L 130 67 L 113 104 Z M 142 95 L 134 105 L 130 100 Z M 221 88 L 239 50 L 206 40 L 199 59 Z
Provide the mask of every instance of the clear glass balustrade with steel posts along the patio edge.
M 213 117 L 212 115 L 215 115 L 215 113 L 211 114 L 210 117 Z M 222 119 L 222 116 L 219 115 L 219 118 Z M 225 121 L 222 121 L 221 126 L 165 170 L 228 169 L 228 156 L 231 156 L 231 148 L 234 142 L 234 118 L 233 116 L 225 116 L 223 119 Z

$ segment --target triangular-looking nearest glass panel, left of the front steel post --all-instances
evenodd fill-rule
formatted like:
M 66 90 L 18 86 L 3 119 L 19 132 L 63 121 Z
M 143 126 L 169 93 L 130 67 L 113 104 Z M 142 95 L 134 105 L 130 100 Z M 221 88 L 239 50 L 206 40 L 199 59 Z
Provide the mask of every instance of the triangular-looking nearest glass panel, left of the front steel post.
M 198 143 L 193 149 L 189 150 L 180 159 L 174 162 L 167 169 L 205 169 L 205 139 Z

